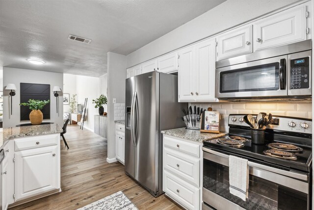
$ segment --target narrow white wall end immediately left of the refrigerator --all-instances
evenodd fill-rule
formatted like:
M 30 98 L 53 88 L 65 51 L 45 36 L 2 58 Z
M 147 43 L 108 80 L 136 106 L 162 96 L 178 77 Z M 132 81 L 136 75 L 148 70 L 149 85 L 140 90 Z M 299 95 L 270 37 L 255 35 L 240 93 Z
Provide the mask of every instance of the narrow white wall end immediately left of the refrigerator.
M 107 53 L 107 79 L 108 79 L 108 134 L 107 134 L 107 162 L 115 160 L 115 122 L 114 122 L 114 104 L 125 103 L 125 89 L 127 78 L 126 56 L 116 53 Z

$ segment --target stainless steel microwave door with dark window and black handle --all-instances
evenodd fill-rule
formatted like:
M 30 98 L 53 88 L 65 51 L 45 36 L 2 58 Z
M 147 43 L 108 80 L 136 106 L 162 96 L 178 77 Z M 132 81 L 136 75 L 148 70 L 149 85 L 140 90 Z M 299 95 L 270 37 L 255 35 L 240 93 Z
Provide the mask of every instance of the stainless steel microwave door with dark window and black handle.
M 257 60 L 216 69 L 217 98 L 288 96 L 288 56 Z

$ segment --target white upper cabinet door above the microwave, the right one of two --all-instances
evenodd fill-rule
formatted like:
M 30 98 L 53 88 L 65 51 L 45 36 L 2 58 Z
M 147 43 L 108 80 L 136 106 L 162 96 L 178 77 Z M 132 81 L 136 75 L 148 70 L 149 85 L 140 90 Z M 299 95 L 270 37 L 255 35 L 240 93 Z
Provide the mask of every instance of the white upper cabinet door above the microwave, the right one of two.
M 253 25 L 254 51 L 306 39 L 305 6 L 293 7 Z

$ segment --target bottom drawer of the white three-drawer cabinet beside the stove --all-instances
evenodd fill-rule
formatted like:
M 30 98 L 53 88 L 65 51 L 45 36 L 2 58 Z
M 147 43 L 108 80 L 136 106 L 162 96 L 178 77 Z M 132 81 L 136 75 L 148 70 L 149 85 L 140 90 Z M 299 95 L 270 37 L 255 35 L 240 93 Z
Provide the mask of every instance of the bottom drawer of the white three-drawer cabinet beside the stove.
M 200 189 L 163 171 L 163 189 L 171 198 L 189 210 L 198 210 L 200 203 Z

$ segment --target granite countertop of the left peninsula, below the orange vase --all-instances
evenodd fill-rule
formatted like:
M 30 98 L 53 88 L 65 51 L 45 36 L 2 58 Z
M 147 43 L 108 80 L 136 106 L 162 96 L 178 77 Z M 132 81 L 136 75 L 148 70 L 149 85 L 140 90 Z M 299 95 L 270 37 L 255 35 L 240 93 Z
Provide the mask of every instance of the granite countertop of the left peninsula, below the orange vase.
M 61 133 L 62 131 L 63 129 L 57 123 L 3 128 L 1 133 L 3 135 L 0 137 L 0 149 L 12 138 Z

